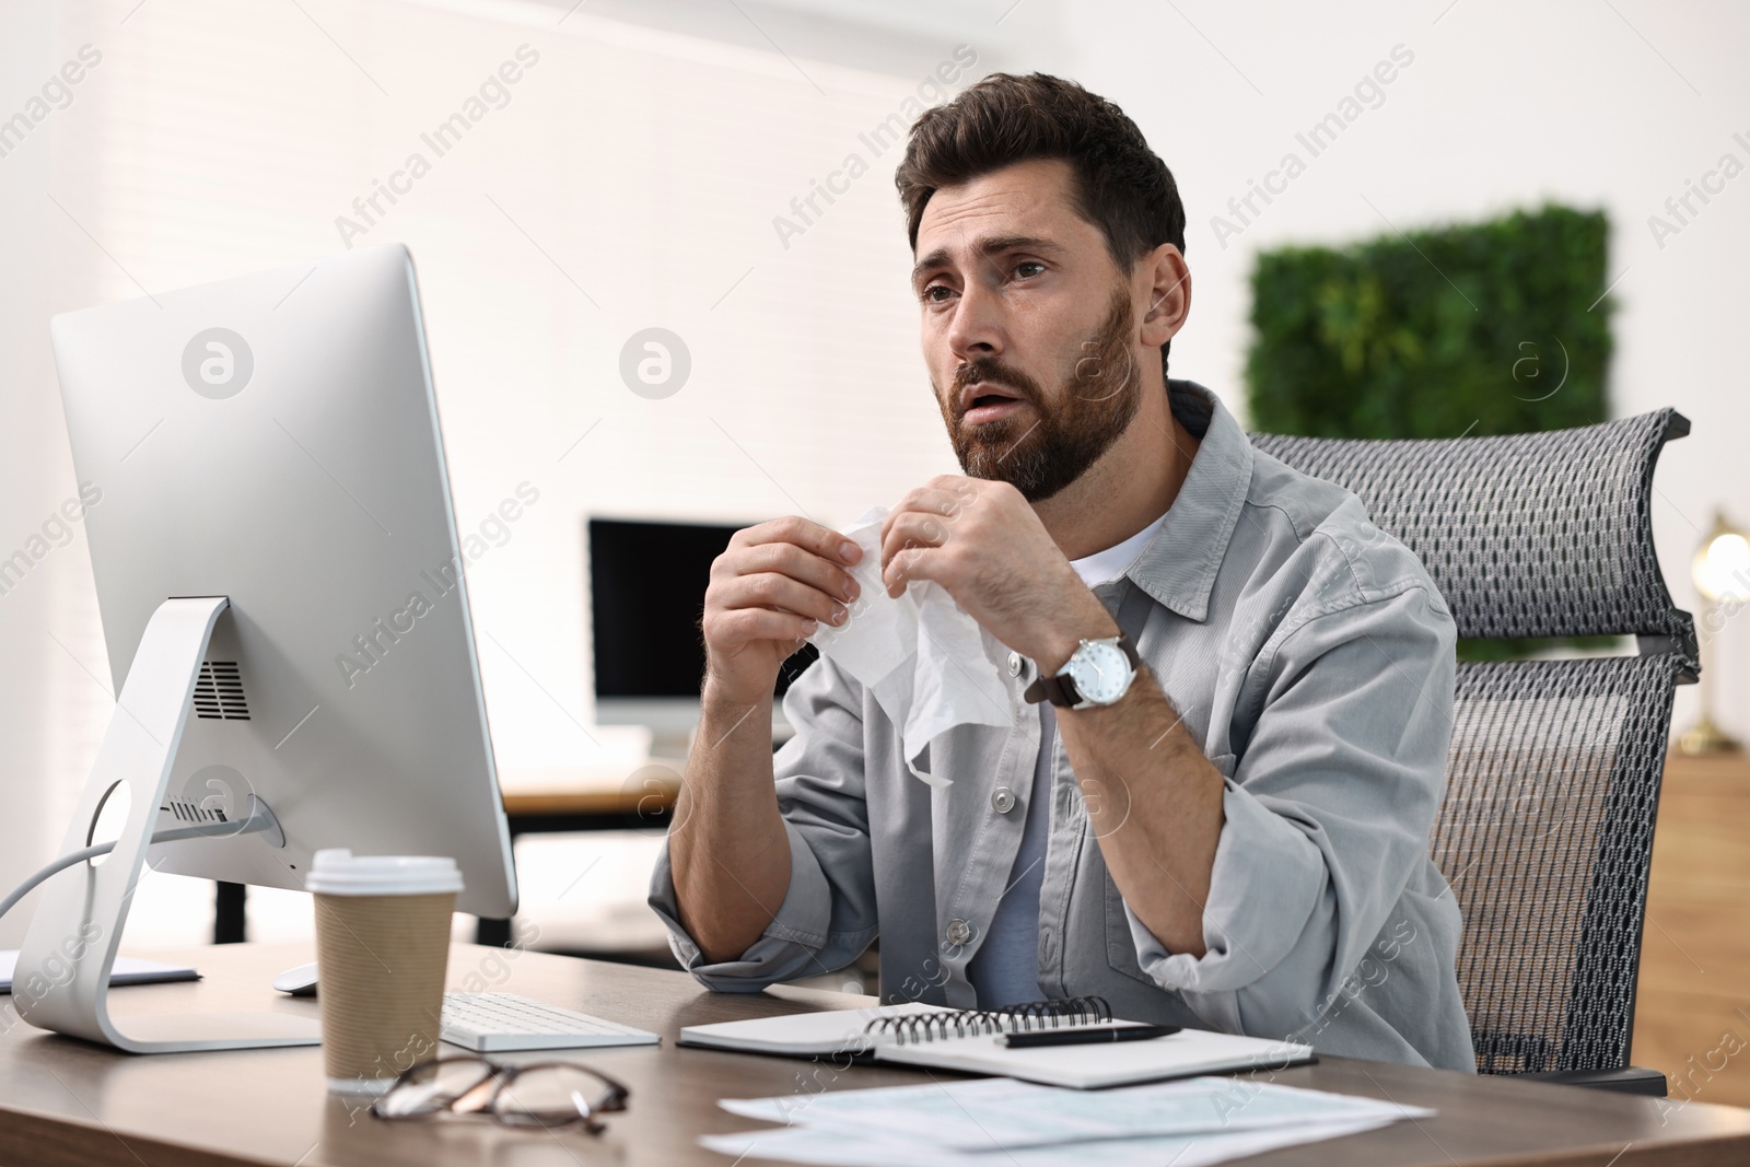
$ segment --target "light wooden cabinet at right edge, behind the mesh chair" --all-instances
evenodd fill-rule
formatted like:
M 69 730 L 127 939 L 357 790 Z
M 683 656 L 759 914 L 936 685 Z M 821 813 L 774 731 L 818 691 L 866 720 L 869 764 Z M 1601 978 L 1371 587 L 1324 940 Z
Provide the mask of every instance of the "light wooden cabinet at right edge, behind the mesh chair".
M 1750 758 L 1664 766 L 1652 842 L 1636 1066 L 1673 1099 L 1750 1106 Z

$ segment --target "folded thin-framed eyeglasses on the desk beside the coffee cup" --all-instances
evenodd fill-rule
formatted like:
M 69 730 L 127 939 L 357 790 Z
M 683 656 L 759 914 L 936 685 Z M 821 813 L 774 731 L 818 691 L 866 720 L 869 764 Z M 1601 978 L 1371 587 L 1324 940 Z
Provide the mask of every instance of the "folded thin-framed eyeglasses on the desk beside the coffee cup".
M 499 1066 L 483 1057 L 438 1057 L 410 1066 L 371 1104 L 388 1120 L 485 1115 L 506 1127 L 569 1127 L 600 1134 L 598 1115 L 626 1109 L 632 1095 L 607 1074 L 572 1062 Z

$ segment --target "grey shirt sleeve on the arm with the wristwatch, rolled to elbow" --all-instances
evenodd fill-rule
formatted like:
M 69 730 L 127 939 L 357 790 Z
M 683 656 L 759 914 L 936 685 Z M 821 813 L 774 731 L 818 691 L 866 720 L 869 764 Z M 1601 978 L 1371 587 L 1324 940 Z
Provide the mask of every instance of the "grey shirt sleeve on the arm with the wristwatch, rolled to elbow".
M 1255 661 L 1262 712 L 1227 766 L 1206 954 L 1167 952 L 1125 905 L 1143 971 L 1211 1025 L 1318 1018 L 1428 863 L 1454 635 L 1435 593 L 1404 586 L 1311 612 Z

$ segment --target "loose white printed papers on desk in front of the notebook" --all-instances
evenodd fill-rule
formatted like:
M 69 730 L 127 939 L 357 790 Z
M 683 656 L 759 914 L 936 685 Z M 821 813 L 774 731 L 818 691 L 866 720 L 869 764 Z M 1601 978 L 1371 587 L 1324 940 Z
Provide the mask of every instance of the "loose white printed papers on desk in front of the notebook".
M 1242 1078 L 1080 1092 L 1004 1078 L 774 1099 L 724 1099 L 777 1129 L 707 1136 L 702 1146 L 798 1164 L 961 1167 L 1092 1162 L 1218 1164 L 1335 1139 L 1433 1111 Z M 1097 1146 L 1090 1146 L 1097 1144 Z

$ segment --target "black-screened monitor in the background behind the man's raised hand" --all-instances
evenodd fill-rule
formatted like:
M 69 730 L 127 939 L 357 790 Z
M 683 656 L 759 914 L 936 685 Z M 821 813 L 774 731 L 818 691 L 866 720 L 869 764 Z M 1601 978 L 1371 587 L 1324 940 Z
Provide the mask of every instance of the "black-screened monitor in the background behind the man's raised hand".
M 698 619 L 710 563 L 730 535 L 749 525 L 590 520 L 597 721 L 649 726 L 658 742 L 684 738 L 698 723 L 705 672 Z M 817 656 L 814 646 L 803 646 L 784 661 L 777 693 Z M 782 733 L 780 710 L 774 709 L 774 719 Z

